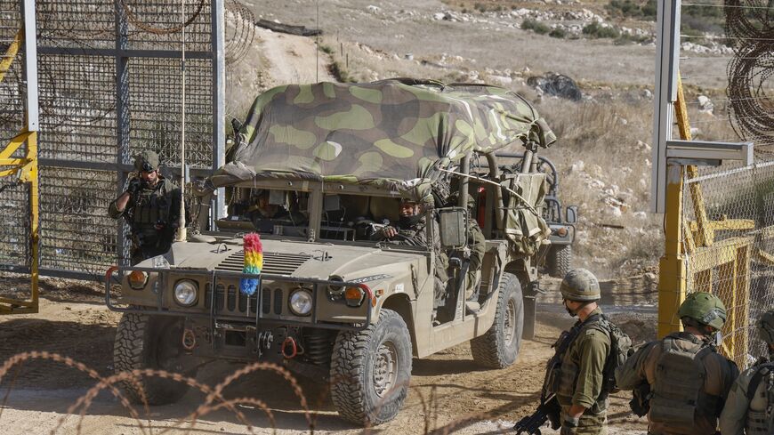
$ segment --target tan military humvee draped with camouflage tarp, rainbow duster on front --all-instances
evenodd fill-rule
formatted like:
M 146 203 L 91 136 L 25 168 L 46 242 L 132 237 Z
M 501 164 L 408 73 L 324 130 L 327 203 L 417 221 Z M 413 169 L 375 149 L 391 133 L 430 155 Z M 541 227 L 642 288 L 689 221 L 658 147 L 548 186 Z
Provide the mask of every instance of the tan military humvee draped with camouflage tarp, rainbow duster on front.
M 263 93 L 233 160 L 210 178 L 232 189 L 219 231 L 109 270 L 107 303 L 124 312 L 116 369 L 195 375 L 214 358 L 276 362 L 330 383 L 344 418 L 378 424 L 399 412 L 412 358 L 470 342 L 480 366 L 510 366 L 534 330 L 547 185 L 544 173 L 501 173 L 495 151 L 523 147 L 530 168 L 554 141 L 527 101 L 488 85 L 393 79 Z M 456 203 L 436 201 L 441 185 Z M 440 302 L 437 252 L 371 240 L 398 220 L 399 198 L 427 205 L 428 239 L 438 234 L 451 258 Z M 472 218 L 486 246 L 466 300 Z M 263 267 L 248 276 L 241 236 L 254 231 Z M 242 293 L 240 278 L 257 278 L 256 291 Z M 187 388 L 154 377 L 125 384 L 151 404 Z

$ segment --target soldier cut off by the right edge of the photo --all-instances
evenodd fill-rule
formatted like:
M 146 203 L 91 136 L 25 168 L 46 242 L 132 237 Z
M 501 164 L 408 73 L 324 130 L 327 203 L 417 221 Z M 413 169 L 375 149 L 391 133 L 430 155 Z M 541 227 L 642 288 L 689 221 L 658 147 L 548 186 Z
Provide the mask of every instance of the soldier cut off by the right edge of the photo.
M 769 359 L 748 368 L 731 387 L 721 414 L 723 435 L 774 433 L 774 310 L 763 313 L 757 326 Z

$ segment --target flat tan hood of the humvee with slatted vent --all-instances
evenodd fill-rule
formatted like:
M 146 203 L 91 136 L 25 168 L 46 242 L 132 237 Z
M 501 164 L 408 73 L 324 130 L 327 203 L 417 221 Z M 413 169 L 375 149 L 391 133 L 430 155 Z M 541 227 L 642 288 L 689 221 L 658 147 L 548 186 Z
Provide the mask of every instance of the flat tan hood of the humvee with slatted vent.
M 261 240 L 263 246 L 262 273 L 298 278 L 328 279 L 332 275 L 345 281 L 374 278 L 410 270 L 425 262 L 421 252 L 391 251 L 370 246 L 331 245 L 293 240 Z M 167 261 L 174 269 L 222 270 L 241 272 L 244 253 L 241 238 L 227 243 L 174 243 Z M 381 280 L 381 278 L 379 279 Z

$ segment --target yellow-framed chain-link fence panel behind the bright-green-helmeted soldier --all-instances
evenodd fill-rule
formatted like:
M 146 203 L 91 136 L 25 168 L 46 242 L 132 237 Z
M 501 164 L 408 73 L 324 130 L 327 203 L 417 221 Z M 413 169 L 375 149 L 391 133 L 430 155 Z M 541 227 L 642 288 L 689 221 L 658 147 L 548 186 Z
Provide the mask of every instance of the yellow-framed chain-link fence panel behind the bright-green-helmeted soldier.
M 774 308 L 774 160 L 705 171 L 684 186 L 687 290 L 722 299 L 724 348 L 746 367 L 765 355 L 754 320 Z

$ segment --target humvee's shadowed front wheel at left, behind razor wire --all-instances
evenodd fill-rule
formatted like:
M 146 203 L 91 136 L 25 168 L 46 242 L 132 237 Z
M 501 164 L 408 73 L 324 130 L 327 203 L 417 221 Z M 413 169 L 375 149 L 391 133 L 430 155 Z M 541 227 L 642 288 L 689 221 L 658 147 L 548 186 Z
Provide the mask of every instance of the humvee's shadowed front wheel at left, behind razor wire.
M 176 363 L 182 353 L 181 336 L 181 318 L 124 313 L 113 347 L 116 373 L 143 368 L 179 372 L 181 367 Z M 196 371 L 196 368 L 189 369 L 183 375 L 193 377 Z M 180 400 L 189 391 L 186 383 L 157 376 L 143 376 L 134 381 L 122 383 L 134 403 L 142 403 L 144 393 L 149 405 L 166 405 Z

